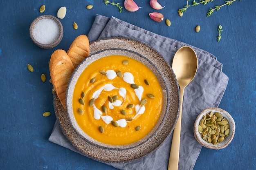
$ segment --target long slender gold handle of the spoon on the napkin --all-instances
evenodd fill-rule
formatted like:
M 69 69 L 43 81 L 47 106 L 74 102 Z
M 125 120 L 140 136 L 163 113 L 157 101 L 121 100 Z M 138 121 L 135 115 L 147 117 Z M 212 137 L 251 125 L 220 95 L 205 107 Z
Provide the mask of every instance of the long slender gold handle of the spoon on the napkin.
M 177 170 L 179 165 L 180 155 L 180 129 L 181 129 L 181 115 L 183 103 L 184 88 L 180 88 L 180 115 L 173 130 L 173 140 L 171 144 L 171 153 L 169 157 L 168 170 Z

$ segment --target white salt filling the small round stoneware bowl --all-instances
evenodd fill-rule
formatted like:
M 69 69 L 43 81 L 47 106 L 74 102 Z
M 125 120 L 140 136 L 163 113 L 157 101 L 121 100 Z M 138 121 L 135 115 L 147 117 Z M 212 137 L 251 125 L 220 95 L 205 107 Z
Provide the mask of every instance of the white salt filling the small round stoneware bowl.
M 33 36 L 41 44 L 51 44 L 57 40 L 59 31 L 59 26 L 54 20 L 43 18 L 35 24 Z

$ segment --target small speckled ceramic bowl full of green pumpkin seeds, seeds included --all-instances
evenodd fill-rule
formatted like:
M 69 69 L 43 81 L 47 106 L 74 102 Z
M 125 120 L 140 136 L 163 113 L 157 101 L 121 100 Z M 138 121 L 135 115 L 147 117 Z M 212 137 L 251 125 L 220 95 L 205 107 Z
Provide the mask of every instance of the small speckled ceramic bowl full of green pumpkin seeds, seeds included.
M 223 149 L 232 141 L 236 125 L 231 115 L 221 108 L 205 108 L 194 124 L 195 139 L 204 147 Z

